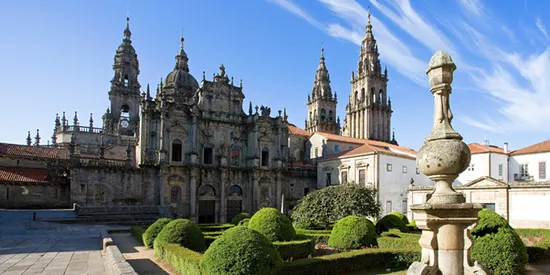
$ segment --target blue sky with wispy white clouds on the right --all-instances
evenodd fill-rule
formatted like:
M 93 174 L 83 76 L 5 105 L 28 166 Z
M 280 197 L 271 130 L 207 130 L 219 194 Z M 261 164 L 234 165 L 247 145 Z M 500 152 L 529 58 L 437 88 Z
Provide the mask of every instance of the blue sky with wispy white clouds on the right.
M 127 15 L 142 89 L 173 70 L 183 34 L 199 82 L 224 64 L 243 81 L 245 110 L 286 108 L 303 128 L 323 47 L 343 121 L 369 7 L 400 145 L 418 150 L 431 130 L 425 71 L 438 50 L 457 65 L 450 102 L 465 142 L 549 139 L 549 1 L 27 0 L 0 1 L 0 142 L 24 144 L 40 129 L 45 144 L 63 111 L 100 126 Z

